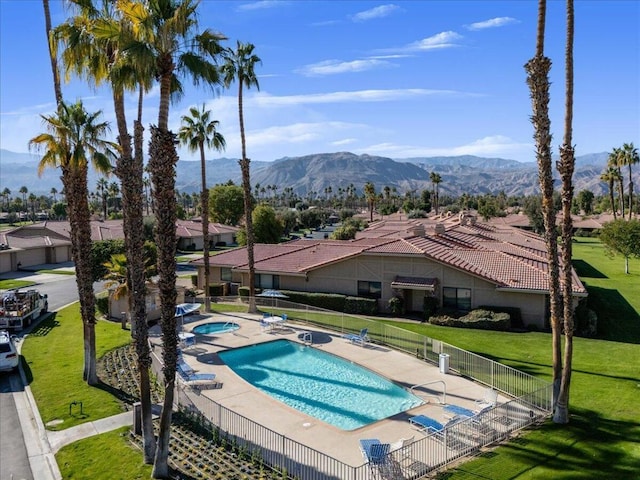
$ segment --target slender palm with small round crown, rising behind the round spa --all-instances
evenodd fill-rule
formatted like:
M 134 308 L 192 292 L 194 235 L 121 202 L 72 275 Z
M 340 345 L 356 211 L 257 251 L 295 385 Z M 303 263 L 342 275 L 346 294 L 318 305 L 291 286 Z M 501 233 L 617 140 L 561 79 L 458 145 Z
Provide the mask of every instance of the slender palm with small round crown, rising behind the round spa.
M 251 199 L 251 179 L 249 175 L 249 163 L 247 158 L 247 143 L 244 132 L 244 112 L 242 106 L 242 90 L 255 86 L 260 90 L 258 77 L 255 73 L 255 66 L 262 63 L 260 57 L 253 53 L 254 45 L 251 43 L 237 42 L 236 49 L 226 49 L 224 52 L 224 64 L 222 65 L 222 75 L 227 88 L 236 81 L 238 82 L 238 119 L 240 121 L 240 140 L 242 144 L 242 158 L 240 158 L 240 170 L 242 171 L 242 188 L 244 190 L 244 218 L 247 229 L 247 256 L 249 260 L 249 311 L 255 311 L 255 265 L 253 256 L 253 221 L 251 219 L 252 199 Z

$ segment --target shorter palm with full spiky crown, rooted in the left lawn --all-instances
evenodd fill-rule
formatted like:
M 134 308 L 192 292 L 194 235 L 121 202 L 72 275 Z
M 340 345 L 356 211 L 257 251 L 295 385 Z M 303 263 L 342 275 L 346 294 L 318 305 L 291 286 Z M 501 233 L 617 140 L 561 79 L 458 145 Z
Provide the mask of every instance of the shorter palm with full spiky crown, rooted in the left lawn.
M 42 116 L 46 133 L 32 138 L 29 147 L 44 149 L 38 174 L 45 168 L 62 170 L 62 183 L 67 197 L 73 261 L 80 298 L 80 313 L 84 325 L 85 365 L 83 378 L 96 385 L 95 297 L 91 259 L 91 225 L 87 172 L 89 161 L 96 170 L 107 172 L 116 158 L 118 146 L 104 139 L 109 131 L 106 122 L 98 122 L 101 112 L 88 113 L 82 102 L 61 104 L 56 115 Z

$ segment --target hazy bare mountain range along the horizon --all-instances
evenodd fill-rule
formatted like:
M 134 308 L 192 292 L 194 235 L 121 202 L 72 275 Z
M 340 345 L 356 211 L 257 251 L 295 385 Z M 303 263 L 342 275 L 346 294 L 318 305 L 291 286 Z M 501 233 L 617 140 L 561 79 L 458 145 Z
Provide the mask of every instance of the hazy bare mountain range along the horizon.
M 607 152 L 576 157 L 576 193 L 580 190 L 591 190 L 596 195 L 608 192 L 608 186 L 600 180 L 607 157 Z M 0 150 L 0 191 L 9 188 L 16 195 L 22 186 L 38 195 L 49 194 L 52 188 L 62 190 L 60 171 L 46 169 L 38 177 L 38 161 L 36 155 Z M 209 186 L 229 180 L 241 184 L 237 159 L 219 158 L 207 160 L 206 163 Z M 439 185 L 441 195 L 495 194 L 504 191 L 510 196 L 539 192 L 536 163 L 472 155 L 391 159 L 337 152 L 285 157 L 273 162 L 252 161 L 251 183 L 263 187 L 275 185 L 279 193 L 290 187 L 304 197 L 309 192 L 323 196 L 327 187 L 336 193 L 338 188 L 346 188 L 351 184 L 358 193 L 362 193 L 364 184 L 372 182 L 378 192 L 389 186 L 395 187 L 402 195 L 412 190 L 420 192 L 431 189 L 431 172 L 437 172 L 442 178 Z M 176 173 L 176 188 L 180 192 L 199 191 L 200 162 L 179 161 Z M 98 178 L 99 175 L 90 171 L 89 190 L 95 190 Z M 109 181 L 115 180 L 114 177 Z M 634 182 L 640 183 L 640 172 L 634 172 Z

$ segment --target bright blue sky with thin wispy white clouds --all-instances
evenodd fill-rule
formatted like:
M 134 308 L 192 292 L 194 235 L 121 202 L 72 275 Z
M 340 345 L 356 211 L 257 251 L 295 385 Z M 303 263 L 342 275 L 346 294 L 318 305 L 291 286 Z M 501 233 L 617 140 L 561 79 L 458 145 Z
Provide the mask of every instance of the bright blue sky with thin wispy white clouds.
M 67 14 L 51 0 L 52 22 Z M 260 90 L 245 92 L 247 154 L 271 161 L 351 151 L 391 158 L 478 155 L 534 161 L 523 65 L 533 55 L 537 2 L 202 1 L 200 25 L 225 45 L 251 42 Z M 576 154 L 640 146 L 640 2 L 576 0 Z M 54 95 L 40 0 L 0 0 L 0 148 L 26 152 Z M 549 1 L 551 121 L 557 153 L 564 123 L 565 4 Z M 113 120 L 110 91 L 77 80 L 67 100 Z M 212 110 L 239 157 L 237 89 L 189 86 L 172 106 L 177 131 L 190 106 Z M 145 103 L 156 123 L 158 90 Z M 135 98 L 128 101 L 130 119 Z M 180 150 L 182 160 L 196 155 Z

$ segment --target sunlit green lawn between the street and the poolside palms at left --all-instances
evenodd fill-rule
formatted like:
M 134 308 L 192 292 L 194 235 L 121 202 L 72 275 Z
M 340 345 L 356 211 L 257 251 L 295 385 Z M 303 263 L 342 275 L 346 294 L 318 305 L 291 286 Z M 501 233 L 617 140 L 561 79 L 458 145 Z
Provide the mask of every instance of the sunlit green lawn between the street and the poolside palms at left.
M 96 349 L 98 358 L 131 341 L 131 332 L 120 323 L 98 321 Z M 61 430 L 79 423 L 121 413 L 116 397 L 104 386 L 89 387 L 82 380 L 84 347 L 79 304 L 75 303 L 51 314 L 25 339 L 23 366 L 42 421 L 60 421 L 51 426 Z M 71 402 L 82 402 L 71 408 Z

